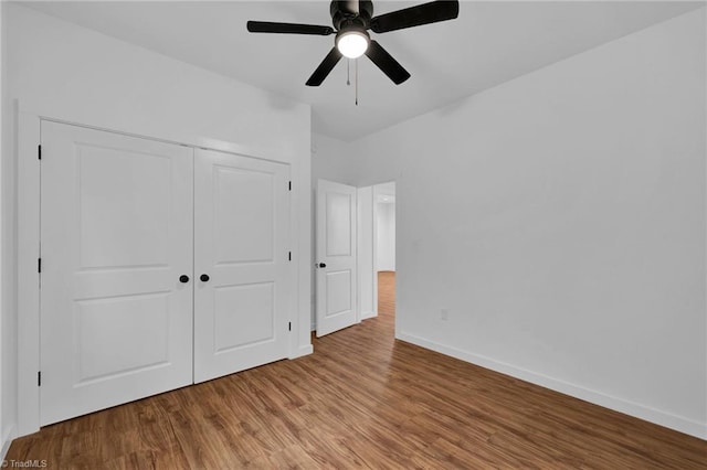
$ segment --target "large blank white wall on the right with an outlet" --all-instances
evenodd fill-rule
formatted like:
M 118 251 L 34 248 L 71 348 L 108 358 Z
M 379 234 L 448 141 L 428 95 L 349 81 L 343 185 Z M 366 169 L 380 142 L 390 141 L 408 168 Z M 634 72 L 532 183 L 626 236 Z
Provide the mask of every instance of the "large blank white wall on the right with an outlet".
M 701 9 L 355 142 L 399 338 L 707 438 L 705 84 Z

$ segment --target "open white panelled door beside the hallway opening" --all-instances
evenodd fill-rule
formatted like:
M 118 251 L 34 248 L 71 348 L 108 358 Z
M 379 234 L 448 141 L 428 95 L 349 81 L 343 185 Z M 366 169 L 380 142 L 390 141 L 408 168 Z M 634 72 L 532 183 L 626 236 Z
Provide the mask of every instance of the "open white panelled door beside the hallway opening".
M 317 337 L 358 321 L 356 188 L 317 181 Z

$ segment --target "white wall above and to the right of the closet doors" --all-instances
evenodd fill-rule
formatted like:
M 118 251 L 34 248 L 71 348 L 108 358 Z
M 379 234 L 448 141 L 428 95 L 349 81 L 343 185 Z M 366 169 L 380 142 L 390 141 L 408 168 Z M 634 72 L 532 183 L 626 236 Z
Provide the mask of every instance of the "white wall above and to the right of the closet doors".
M 296 306 L 293 325 L 297 327 L 293 355 L 310 352 L 309 106 L 19 4 L 7 7 L 8 90 L 10 98 L 19 100 L 23 113 L 239 151 L 292 164 L 293 260 L 297 263 L 298 278 L 297 298 L 293 299 Z M 6 120 L 4 124 L 6 135 L 12 135 L 13 122 Z M 3 172 L 8 168 L 15 171 L 17 162 L 10 154 L 3 154 L 2 163 Z M 3 196 L 8 191 L 6 188 Z M 11 196 L 11 202 L 3 201 L 3 221 L 17 217 L 17 200 L 13 194 Z M 8 232 L 6 229 L 3 235 Z M 17 277 L 18 263 L 8 263 L 7 258 L 7 254 L 15 253 L 15 239 L 3 241 L 3 296 L 10 292 L 13 297 L 3 298 L 3 329 L 6 323 L 17 319 L 18 300 L 11 279 Z M 9 274 L 7 278 L 6 274 Z M 24 313 L 20 312 L 20 316 Z M 3 361 L 17 362 L 17 355 L 7 357 L 4 352 Z M 17 384 L 17 374 L 8 376 L 4 372 L 3 387 L 4 384 Z M 23 387 L 22 383 L 20 387 Z M 36 393 L 35 388 L 32 393 Z M 22 396 L 25 399 L 24 394 Z M 7 406 L 12 409 L 15 403 Z M 19 430 L 24 431 L 28 429 Z

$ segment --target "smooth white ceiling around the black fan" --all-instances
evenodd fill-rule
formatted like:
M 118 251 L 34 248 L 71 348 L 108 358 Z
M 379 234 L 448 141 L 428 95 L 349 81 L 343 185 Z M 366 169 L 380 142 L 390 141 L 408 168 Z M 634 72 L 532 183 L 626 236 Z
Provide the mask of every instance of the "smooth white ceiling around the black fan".
M 423 1 L 374 1 L 374 14 Z M 354 140 L 595 47 L 704 2 L 463 1 L 453 21 L 371 36 L 412 75 L 359 60 L 359 106 L 341 61 L 305 82 L 334 36 L 251 34 L 247 20 L 330 25 L 328 1 L 28 2 L 28 7 L 312 105 L 313 131 Z

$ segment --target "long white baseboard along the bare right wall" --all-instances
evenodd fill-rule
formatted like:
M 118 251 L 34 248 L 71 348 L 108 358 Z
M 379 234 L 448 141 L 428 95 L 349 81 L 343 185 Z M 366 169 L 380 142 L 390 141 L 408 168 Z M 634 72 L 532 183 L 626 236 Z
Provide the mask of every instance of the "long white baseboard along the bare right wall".
M 669 413 L 661 412 L 659 409 L 640 405 L 637 403 L 616 398 L 614 396 L 584 388 L 555 377 L 549 377 L 547 375 L 538 374 L 532 371 L 516 367 L 511 364 L 496 361 L 490 357 L 435 343 L 414 334 L 401 332 L 397 335 L 397 338 L 399 340 L 407 341 L 409 343 L 436 351 L 439 353 L 465 362 L 469 362 L 472 364 L 479 365 L 495 372 L 499 372 L 502 374 L 510 375 L 515 378 L 520 378 L 521 381 L 530 382 L 531 384 L 540 385 L 542 387 L 550 388 L 556 392 L 560 392 L 566 395 L 570 395 L 576 398 L 580 398 L 585 402 L 613 409 L 615 412 L 624 413 L 626 415 L 707 440 L 707 423 L 695 421 L 682 416 L 676 416 Z

